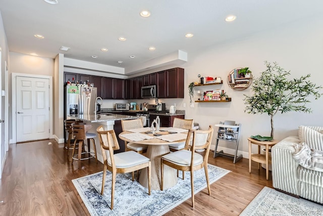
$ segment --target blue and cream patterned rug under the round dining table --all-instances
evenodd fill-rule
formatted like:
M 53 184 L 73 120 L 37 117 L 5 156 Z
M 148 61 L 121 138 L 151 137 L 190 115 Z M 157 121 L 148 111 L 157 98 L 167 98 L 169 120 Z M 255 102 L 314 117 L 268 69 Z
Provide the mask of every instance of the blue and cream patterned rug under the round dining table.
M 210 164 L 207 168 L 210 184 L 230 172 Z M 102 174 L 101 171 L 72 180 L 91 215 L 162 215 L 191 197 L 189 172 L 185 172 L 185 180 L 179 178 L 175 186 L 164 191 L 151 190 L 150 196 L 147 188 L 142 187 L 137 181 L 131 181 L 131 174 L 117 174 L 114 208 L 111 210 L 112 173 L 107 171 L 104 193 L 101 196 Z M 179 176 L 182 176 L 181 172 Z M 204 188 L 206 188 L 204 169 L 194 171 L 194 193 Z

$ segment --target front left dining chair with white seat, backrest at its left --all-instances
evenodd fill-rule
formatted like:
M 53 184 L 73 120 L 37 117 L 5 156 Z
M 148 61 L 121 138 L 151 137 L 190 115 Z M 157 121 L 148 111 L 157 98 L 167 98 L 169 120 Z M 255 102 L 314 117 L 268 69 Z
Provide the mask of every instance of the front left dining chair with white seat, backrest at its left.
M 117 173 L 132 172 L 132 181 L 134 181 L 134 171 L 147 167 L 148 169 L 148 194 L 150 195 L 150 177 L 151 177 L 151 162 L 150 159 L 135 152 L 126 151 L 114 154 L 114 150 L 119 150 L 119 143 L 114 130 L 104 131 L 102 126 L 97 129 L 97 134 L 100 140 L 100 146 L 103 157 L 103 177 L 101 195 L 103 195 L 106 170 L 112 172 L 112 191 L 111 191 L 111 209 L 114 205 L 115 185 Z M 109 155 L 109 157 L 106 156 Z

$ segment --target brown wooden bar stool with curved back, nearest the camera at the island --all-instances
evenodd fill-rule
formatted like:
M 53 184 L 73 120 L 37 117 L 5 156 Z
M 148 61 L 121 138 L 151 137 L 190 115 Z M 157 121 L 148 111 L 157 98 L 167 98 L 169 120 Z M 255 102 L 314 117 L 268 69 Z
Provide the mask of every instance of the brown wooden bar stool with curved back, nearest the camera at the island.
M 74 160 L 78 160 L 79 161 L 79 168 L 81 166 L 81 160 L 86 160 L 86 159 L 90 159 L 92 157 L 95 157 L 96 159 L 96 163 L 97 163 L 97 156 L 96 156 L 96 148 L 95 148 L 95 140 L 94 138 L 96 137 L 96 134 L 93 133 L 86 133 L 86 131 L 88 129 L 90 129 L 92 127 L 92 125 L 90 124 L 86 124 L 84 122 L 78 122 L 78 123 L 72 123 L 72 133 L 73 133 L 73 137 L 75 139 L 74 141 L 74 148 L 73 148 L 73 159 Z M 88 152 L 82 152 L 82 149 L 84 148 L 83 144 L 84 144 L 84 140 L 85 139 L 89 139 L 90 141 L 92 140 L 93 143 L 93 149 L 94 149 L 94 156 L 91 156 L 90 152 L 90 141 L 88 142 Z M 78 150 L 78 154 L 74 155 L 75 153 L 75 146 L 76 143 L 79 143 L 79 150 Z M 88 157 L 82 158 L 82 154 L 89 154 Z M 72 160 L 72 164 L 73 164 L 73 160 Z

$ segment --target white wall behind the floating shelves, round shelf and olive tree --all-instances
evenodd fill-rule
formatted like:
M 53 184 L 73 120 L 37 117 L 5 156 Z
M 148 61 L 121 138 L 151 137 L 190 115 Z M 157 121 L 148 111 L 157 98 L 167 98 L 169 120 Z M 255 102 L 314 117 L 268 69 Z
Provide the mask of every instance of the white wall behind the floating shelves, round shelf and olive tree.
M 185 87 L 188 87 L 192 81 L 198 81 L 197 74 L 220 76 L 224 80 L 221 89 L 227 92 L 232 102 L 195 103 L 194 108 L 186 108 L 186 118 L 193 118 L 202 129 L 206 129 L 209 124 L 214 125 L 224 120 L 242 123 L 239 150 L 247 152 L 248 137 L 251 135 L 270 136 L 270 116 L 244 112 L 243 95 L 251 94 L 251 90 L 230 89 L 226 81 L 228 73 L 237 67 L 249 67 L 253 76 L 258 77 L 259 73 L 266 69 L 264 61 L 276 61 L 282 68 L 291 71 L 291 78 L 310 73 L 310 81 L 320 85 L 323 68 L 323 29 L 320 28 L 322 25 L 322 18 L 291 23 L 289 26 L 269 29 L 267 32 L 260 32 L 239 41 L 191 53 L 188 63 L 184 65 Z M 216 87 L 214 88 L 217 89 Z M 195 89 L 209 90 L 212 88 L 195 87 Z M 185 91 L 183 102 L 188 105 L 188 89 L 185 88 Z M 290 112 L 277 114 L 274 117 L 275 139 L 281 140 L 289 135 L 297 136 L 299 125 L 322 125 L 323 112 L 320 109 L 323 107 L 323 97 L 317 101 L 311 101 L 307 105 L 313 110 L 310 114 Z M 218 128 L 214 126 L 214 129 L 217 131 Z M 214 144 L 215 139 L 213 140 Z M 226 142 L 220 142 L 220 145 L 233 148 L 232 144 Z

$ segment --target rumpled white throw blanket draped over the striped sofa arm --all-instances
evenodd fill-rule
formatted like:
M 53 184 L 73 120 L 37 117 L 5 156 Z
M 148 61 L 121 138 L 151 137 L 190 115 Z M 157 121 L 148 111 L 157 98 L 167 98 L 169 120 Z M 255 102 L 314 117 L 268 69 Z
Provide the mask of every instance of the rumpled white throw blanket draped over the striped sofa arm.
M 295 144 L 294 159 L 299 165 L 323 172 L 323 151 L 310 149 L 306 143 Z

